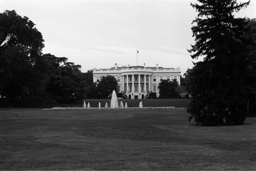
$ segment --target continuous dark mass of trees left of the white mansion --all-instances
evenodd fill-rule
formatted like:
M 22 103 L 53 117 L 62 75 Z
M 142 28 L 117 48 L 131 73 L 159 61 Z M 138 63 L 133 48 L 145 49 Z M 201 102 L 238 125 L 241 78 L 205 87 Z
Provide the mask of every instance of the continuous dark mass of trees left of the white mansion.
M 10 105 L 16 96 L 42 96 L 48 103 L 86 96 L 92 70 L 82 73 L 66 57 L 42 54 L 41 32 L 14 10 L 0 14 L 0 25 L 0 95 Z

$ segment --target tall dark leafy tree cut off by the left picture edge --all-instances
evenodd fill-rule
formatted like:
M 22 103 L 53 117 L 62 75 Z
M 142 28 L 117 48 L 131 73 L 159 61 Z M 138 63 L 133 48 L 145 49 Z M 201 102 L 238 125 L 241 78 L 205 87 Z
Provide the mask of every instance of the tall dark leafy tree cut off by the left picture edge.
M 0 94 L 10 98 L 44 89 L 40 55 L 42 34 L 28 17 L 14 10 L 0 13 Z M 29 90 L 28 90 L 29 89 Z

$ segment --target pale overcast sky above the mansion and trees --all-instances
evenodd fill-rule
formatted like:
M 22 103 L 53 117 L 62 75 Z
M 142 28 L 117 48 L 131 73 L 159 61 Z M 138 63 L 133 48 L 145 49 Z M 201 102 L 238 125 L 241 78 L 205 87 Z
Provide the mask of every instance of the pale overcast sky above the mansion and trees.
M 1 0 L 0 12 L 15 10 L 36 24 L 43 53 L 67 57 L 82 72 L 118 65 L 192 68 L 195 0 Z M 245 0 L 237 2 L 246 2 Z M 235 15 L 256 18 L 256 1 Z M 193 60 L 196 62 L 196 60 Z

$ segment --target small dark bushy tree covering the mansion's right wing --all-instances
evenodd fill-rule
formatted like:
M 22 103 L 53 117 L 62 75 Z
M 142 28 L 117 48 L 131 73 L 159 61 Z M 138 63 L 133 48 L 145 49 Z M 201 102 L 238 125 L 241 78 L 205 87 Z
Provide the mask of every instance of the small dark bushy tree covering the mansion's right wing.
M 177 91 L 179 83 L 176 80 L 159 82 L 157 89 L 159 89 L 159 97 L 180 97 Z

